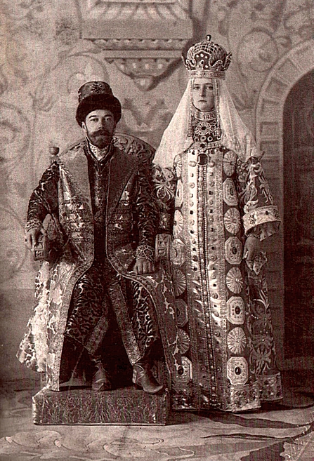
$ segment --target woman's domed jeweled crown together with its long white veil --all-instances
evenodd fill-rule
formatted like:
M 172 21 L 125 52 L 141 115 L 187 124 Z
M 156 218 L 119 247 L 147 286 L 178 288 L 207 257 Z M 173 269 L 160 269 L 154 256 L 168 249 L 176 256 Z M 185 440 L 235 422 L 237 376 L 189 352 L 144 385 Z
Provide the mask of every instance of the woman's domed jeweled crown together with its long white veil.
M 215 112 L 221 131 L 220 143 L 233 150 L 243 161 L 249 156 L 261 156 L 251 132 L 240 119 L 233 104 L 227 86 L 225 72 L 231 61 L 231 53 L 211 41 L 201 41 L 190 47 L 183 63 L 188 69 L 190 79 L 181 102 L 172 117 L 168 128 L 155 154 L 155 163 L 172 167 L 174 158 L 187 150 L 193 142 L 191 117 L 201 115 L 206 119 L 206 112 L 199 112 L 192 105 L 192 83 L 194 79 L 212 79 L 214 86 Z

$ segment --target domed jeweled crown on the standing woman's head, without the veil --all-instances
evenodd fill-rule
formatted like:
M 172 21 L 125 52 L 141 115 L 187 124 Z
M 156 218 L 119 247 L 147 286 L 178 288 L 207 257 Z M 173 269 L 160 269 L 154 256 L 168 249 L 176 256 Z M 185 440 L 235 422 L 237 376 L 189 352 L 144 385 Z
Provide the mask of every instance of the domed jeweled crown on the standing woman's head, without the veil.
M 231 56 L 232 53 L 227 53 L 225 48 L 215 44 L 211 41 L 211 36 L 207 35 L 206 41 L 191 46 L 186 57 L 182 56 L 182 58 L 192 78 L 225 79 L 225 71 L 230 65 Z

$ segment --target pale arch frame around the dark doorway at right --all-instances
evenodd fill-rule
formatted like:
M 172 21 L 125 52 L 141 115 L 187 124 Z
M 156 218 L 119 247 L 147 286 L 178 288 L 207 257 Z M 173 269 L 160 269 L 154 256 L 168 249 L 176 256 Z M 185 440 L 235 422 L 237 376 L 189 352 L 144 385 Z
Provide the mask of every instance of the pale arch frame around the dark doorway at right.
M 314 40 L 304 41 L 284 55 L 263 84 L 256 107 L 256 139 L 265 152 L 263 166 L 270 181 L 275 203 L 284 218 L 284 103 L 294 85 L 313 69 Z M 292 358 L 284 353 L 284 219 L 280 232 L 269 239 L 269 293 L 273 326 L 281 368 L 294 368 L 296 361 L 313 368 L 313 359 Z

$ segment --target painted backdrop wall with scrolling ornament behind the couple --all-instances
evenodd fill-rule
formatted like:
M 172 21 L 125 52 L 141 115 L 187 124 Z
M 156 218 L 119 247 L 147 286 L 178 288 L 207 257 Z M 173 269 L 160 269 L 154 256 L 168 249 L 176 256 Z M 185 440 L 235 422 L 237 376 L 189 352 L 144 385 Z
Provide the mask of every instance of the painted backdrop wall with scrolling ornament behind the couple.
M 74 119 L 79 86 L 110 83 L 122 101 L 119 131 L 157 147 L 185 88 L 181 51 L 210 33 L 233 53 L 228 85 L 266 151 L 266 174 L 282 208 L 278 107 L 313 69 L 313 7 L 308 0 L 3 0 L 0 18 L 0 369 L 4 380 L 15 380 L 31 373 L 15 359 L 37 270 L 24 245 L 27 201 L 50 162 L 49 145 L 63 149 L 81 137 Z M 282 232 L 268 243 L 268 280 L 284 365 Z

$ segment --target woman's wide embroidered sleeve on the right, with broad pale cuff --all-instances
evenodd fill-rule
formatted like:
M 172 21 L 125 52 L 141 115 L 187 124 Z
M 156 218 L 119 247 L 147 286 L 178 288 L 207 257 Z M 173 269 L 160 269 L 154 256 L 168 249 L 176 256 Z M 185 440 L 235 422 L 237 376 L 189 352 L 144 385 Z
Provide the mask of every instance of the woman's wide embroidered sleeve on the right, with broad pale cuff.
M 261 159 L 237 159 L 236 184 L 245 234 L 255 234 L 261 240 L 275 234 L 280 225 L 280 215 L 273 203 Z

